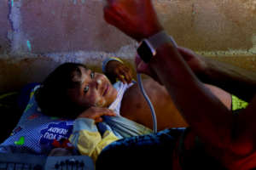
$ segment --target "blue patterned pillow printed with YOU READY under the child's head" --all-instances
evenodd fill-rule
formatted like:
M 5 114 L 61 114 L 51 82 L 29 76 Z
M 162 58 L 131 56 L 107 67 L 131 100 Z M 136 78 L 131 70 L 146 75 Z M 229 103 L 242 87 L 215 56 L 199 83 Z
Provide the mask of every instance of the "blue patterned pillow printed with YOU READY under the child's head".
M 26 110 L 10 137 L 0 145 L 0 152 L 45 155 L 54 148 L 54 141 L 68 139 L 73 120 L 44 116 L 34 97 L 34 88 Z

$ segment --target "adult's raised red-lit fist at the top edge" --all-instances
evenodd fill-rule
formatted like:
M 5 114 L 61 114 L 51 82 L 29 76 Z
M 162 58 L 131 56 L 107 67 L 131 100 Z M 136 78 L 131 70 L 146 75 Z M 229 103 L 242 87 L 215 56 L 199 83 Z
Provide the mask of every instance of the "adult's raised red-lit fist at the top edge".
M 163 30 L 151 0 L 106 0 L 105 20 L 138 42 Z

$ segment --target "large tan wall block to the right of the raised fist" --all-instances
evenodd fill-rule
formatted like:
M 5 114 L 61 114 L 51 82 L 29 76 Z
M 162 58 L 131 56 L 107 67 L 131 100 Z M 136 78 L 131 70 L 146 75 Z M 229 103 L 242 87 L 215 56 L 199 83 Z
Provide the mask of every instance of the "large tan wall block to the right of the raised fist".
M 166 0 L 155 1 L 155 7 L 166 30 L 184 47 L 246 54 L 256 45 L 255 0 Z

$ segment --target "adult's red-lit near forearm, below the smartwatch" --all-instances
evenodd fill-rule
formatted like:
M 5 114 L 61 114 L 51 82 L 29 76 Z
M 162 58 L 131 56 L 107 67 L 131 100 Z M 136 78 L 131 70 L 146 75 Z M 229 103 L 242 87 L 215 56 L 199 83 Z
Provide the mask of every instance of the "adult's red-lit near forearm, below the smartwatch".
M 231 139 L 232 115 L 195 77 L 177 48 L 172 44 L 158 48 L 150 66 L 172 96 L 177 109 L 201 139 L 208 144 L 226 147 Z

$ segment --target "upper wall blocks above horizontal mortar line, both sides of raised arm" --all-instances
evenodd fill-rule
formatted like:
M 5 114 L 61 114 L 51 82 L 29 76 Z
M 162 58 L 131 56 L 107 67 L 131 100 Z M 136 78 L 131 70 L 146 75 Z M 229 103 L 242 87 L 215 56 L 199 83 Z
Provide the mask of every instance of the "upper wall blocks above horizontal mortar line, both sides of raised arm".
M 102 17 L 105 0 L 3 0 L 0 35 L 13 54 L 115 52 L 134 45 Z M 177 43 L 195 51 L 255 52 L 255 0 L 153 0 Z M 6 26 L 5 26 L 6 25 Z M 2 39 L 2 38 L 1 38 Z M 2 45 L 4 42 L 1 42 Z

